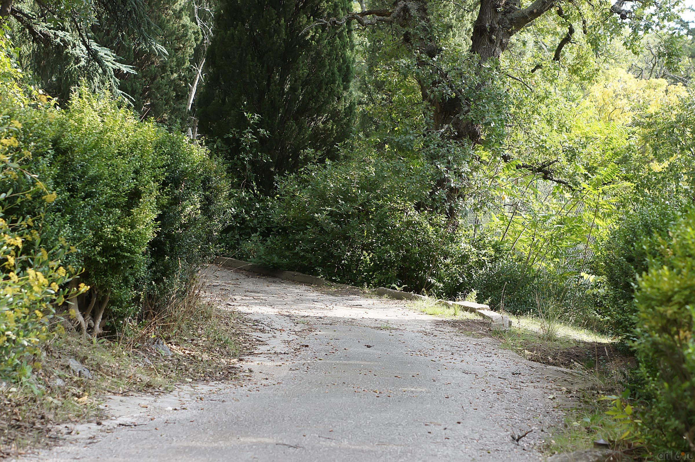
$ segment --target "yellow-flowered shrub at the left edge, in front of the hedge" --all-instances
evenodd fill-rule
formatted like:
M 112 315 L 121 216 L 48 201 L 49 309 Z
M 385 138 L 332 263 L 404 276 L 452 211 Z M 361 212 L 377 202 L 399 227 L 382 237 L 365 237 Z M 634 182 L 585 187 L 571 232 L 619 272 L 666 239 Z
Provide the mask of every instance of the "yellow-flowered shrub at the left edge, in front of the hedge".
M 63 266 L 67 245 L 47 246 L 41 239 L 44 208 L 54 195 L 36 180 L 31 168 L 31 137 L 0 102 L 0 380 L 19 381 L 38 363 L 40 344 L 51 336 L 55 307 L 75 294 L 67 288 L 72 272 Z M 40 119 L 42 114 L 39 114 Z M 26 121 L 28 122 L 28 121 Z M 17 189 L 19 183 L 25 188 Z M 17 214 L 38 197 L 33 215 Z M 79 290 L 83 290 L 80 288 Z

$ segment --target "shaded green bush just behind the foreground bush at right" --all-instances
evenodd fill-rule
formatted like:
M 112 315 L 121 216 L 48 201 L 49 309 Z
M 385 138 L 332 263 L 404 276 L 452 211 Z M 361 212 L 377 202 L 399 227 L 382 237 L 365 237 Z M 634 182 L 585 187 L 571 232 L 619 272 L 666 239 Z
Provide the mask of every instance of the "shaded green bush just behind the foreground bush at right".
M 598 249 L 595 272 L 603 278 L 605 292 L 596 302 L 619 336 L 628 335 L 635 327 L 637 277 L 647 270 L 658 240 L 667 236 L 678 219 L 678 209 L 664 203 L 641 206 L 628 213 Z

